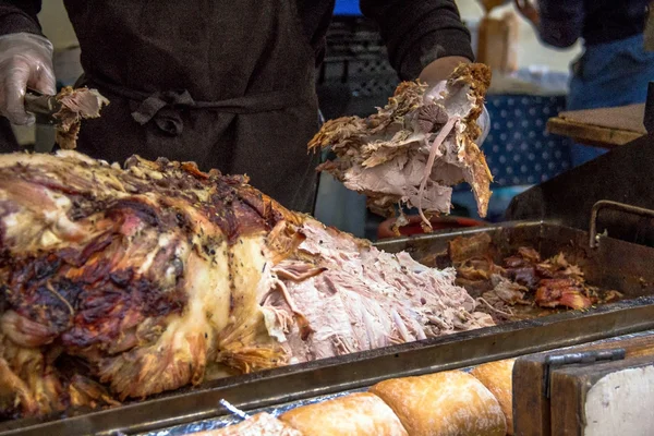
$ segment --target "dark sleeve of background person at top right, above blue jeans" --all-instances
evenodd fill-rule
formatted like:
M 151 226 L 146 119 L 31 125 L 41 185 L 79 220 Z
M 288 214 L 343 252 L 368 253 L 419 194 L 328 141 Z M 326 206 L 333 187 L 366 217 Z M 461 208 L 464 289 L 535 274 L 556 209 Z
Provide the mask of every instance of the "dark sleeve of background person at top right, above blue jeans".
M 583 0 L 540 0 L 538 9 L 538 35 L 543 43 L 566 48 L 581 37 L 585 19 Z

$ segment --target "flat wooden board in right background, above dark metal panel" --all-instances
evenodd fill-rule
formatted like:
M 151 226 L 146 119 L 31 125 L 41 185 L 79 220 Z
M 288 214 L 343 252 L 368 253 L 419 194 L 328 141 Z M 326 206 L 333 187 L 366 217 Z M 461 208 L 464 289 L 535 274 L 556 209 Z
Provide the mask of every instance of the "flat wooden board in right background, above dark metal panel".
M 647 133 L 644 113 L 645 105 L 567 111 L 550 118 L 547 131 L 580 144 L 613 148 Z

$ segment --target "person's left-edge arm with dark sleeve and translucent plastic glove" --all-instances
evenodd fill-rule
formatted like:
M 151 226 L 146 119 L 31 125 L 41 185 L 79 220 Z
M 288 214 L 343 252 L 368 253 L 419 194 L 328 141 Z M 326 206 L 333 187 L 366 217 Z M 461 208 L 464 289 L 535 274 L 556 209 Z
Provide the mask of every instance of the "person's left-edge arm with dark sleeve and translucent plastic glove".
M 14 124 L 29 124 L 27 87 L 55 94 L 52 44 L 43 35 L 37 14 L 41 2 L 0 0 L 0 113 Z

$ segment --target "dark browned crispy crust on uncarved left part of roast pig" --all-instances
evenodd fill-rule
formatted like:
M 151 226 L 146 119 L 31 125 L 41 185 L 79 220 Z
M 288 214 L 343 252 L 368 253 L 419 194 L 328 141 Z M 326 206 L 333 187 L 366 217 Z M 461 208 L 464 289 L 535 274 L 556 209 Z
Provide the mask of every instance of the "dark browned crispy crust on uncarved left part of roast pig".
M 0 201 L 0 318 L 13 324 L 0 326 L 0 340 L 7 327 L 10 342 L 45 349 L 56 344 L 65 355 L 83 359 L 89 375 L 111 388 L 100 392 L 105 388 L 94 388 L 96 382 L 90 379 L 71 384 L 51 366 L 51 378 L 40 382 L 57 385 L 49 405 L 27 396 L 21 410 L 2 409 L 10 414 L 101 405 L 201 383 L 209 360 L 205 336 L 186 338 L 193 360 L 177 368 L 177 355 L 162 351 L 153 361 L 148 349 L 166 330 L 169 317 L 187 310 L 184 263 L 177 259 L 177 247 L 190 244 L 210 262 L 223 254 L 218 252 L 223 242 L 235 245 L 242 238 L 270 232 L 282 220 L 301 226 L 305 219 L 250 186 L 245 177 L 204 173 L 189 162 L 134 156 L 119 170 L 76 154 L 61 158 L 16 154 L 4 159 L 14 164 L 0 159 L 4 195 Z M 43 235 L 16 234 L 4 227 L 2 218 L 22 208 L 60 210 L 55 197 L 70 201 L 65 217 L 71 227 L 83 229 L 62 237 L 68 238 L 63 244 L 41 245 Z M 48 226 L 34 222 L 32 228 Z M 148 261 L 146 272 L 140 272 L 161 234 L 168 235 L 168 245 Z M 294 249 L 296 244 L 278 247 L 280 258 Z M 232 267 L 238 265 L 230 263 Z M 8 363 L 4 350 L 0 347 L 0 364 Z M 263 367 L 283 363 L 280 350 L 261 352 Z M 37 361 L 44 359 L 40 351 L 34 353 Z M 237 358 L 225 359 L 227 363 L 233 359 L 239 367 Z M 11 361 L 9 365 L 20 366 Z M 153 372 L 164 376 L 134 383 Z

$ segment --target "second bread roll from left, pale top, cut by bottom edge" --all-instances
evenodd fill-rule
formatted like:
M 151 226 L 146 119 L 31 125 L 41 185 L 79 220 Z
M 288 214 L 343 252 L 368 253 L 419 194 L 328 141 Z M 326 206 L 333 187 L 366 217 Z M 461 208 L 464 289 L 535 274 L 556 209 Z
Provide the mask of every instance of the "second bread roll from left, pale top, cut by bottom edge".
M 368 392 L 351 393 L 303 405 L 279 416 L 304 436 L 405 436 L 400 420 L 382 399 Z

